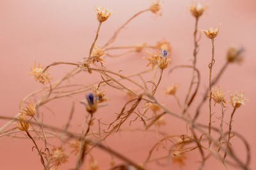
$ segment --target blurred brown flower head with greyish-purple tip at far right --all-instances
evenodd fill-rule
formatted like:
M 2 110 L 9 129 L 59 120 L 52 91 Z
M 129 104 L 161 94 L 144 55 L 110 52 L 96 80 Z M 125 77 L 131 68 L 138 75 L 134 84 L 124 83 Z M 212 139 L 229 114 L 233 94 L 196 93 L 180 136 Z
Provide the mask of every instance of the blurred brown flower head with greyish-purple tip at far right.
M 227 51 L 228 62 L 242 62 L 243 61 L 243 47 L 230 46 Z

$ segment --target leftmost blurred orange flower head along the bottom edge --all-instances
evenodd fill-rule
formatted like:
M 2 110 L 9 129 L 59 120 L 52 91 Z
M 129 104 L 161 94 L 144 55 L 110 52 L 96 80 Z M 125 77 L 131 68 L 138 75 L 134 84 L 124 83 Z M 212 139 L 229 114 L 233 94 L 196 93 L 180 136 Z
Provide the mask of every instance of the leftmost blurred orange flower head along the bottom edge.
M 60 164 L 68 162 L 68 154 L 64 152 L 64 149 L 61 146 L 58 148 L 52 148 L 50 157 L 50 161 L 54 166 L 60 166 Z

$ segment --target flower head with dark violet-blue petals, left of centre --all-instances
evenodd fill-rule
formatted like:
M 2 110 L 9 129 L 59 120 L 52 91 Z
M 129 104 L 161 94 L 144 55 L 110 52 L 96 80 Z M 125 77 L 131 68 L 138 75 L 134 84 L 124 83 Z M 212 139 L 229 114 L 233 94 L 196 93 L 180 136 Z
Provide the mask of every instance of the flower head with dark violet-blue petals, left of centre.
M 93 93 L 87 94 L 85 96 L 86 100 L 81 101 L 86 107 L 88 113 L 92 114 L 95 113 L 98 106 L 98 97 L 95 96 Z

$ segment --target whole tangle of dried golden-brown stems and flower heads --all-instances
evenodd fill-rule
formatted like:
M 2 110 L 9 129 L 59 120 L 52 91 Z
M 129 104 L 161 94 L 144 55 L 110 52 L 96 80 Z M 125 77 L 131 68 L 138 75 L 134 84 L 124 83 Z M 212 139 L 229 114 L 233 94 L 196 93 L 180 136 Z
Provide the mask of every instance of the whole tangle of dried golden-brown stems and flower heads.
M 218 36 L 220 25 L 217 29 L 210 28 L 207 31 L 202 30 L 202 32 L 205 33 L 205 36 L 211 39 L 212 45 L 212 51 L 209 52 L 210 62 L 208 66 L 205 66 L 205 69 L 209 67 L 209 87 L 205 90 L 202 101 L 198 104 L 195 113 L 193 113 L 193 109 L 191 109 L 192 104 L 196 105 L 196 102 L 194 102 L 195 96 L 198 96 L 197 92 L 202 81 L 200 80 L 200 70 L 196 67 L 196 61 L 198 60 L 198 41 L 200 40 L 198 39 L 198 35 L 200 34 L 200 32 L 198 32 L 198 22 L 199 18 L 204 15 L 204 11 L 207 8 L 208 6 L 202 6 L 201 4 L 195 3 L 191 4 L 189 7 L 191 15 L 195 17 L 195 30 L 193 32 L 194 50 L 192 53 L 193 64 L 170 66 L 172 65 L 170 61 L 173 60 L 172 57 L 169 57 L 172 48 L 170 43 L 165 39 L 158 41 L 156 45 L 141 43 L 140 45 L 133 46 L 109 46 L 113 41 L 115 41 L 119 32 L 141 13 L 151 11 L 158 16 L 161 15 L 160 1 L 153 1 L 148 5 L 147 9 L 141 10 L 135 15 L 132 15 L 127 22 L 116 29 L 113 36 L 111 36 L 105 45 L 96 46 L 95 44 L 99 38 L 101 25 L 108 24 L 107 21 L 111 19 L 109 17 L 113 13 L 105 6 L 97 7 L 97 18 L 95 19 L 99 21 L 99 25 L 97 27 L 97 32 L 92 46 L 89 48 L 89 55 L 81 59 L 81 62 L 76 62 L 74 60 L 71 60 L 70 62 L 51 61 L 52 64 L 49 64 L 46 67 L 40 66 L 40 64 L 36 66 L 35 62 L 33 67 L 31 67 L 31 73 L 29 74 L 32 74 L 36 81 L 44 84 L 44 87 L 32 92 L 22 99 L 19 113 L 16 116 L 0 117 L 2 119 L 10 120 L 0 128 L 0 136 L 7 137 L 10 136 L 10 134 L 24 134 L 22 132 L 26 132 L 26 134 L 24 134 L 25 138 L 33 141 L 32 147 L 36 148 L 38 157 L 40 158 L 44 169 L 58 169 L 65 164 L 65 162 L 68 162 L 69 153 L 68 151 L 65 152 L 65 150 L 72 150 L 70 153 L 74 153 L 76 156 L 76 166 L 74 169 L 84 169 L 85 167 L 94 170 L 101 169 L 100 162 L 93 157 L 94 153 L 92 150 L 94 150 L 94 148 L 100 148 L 110 155 L 111 159 L 109 159 L 109 162 L 111 162 L 112 166 L 109 167 L 110 169 L 150 169 L 152 162 L 157 163 L 159 160 L 168 160 L 167 162 L 170 164 L 170 159 L 172 159 L 173 162 L 178 162 L 180 166 L 182 166 L 186 164 L 186 161 L 189 159 L 189 157 L 186 156 L 186 153 L 193 152 L 195 150 L 198 150 L 202 157 L 201 164 L 198 169 L 203 169 L 205 161 L 207 161 L 211 156 L 220 160 L 220 164 L 223 164 L 223 167 L 228 168 L 229 166 L 235 166 L 236 168 L 249 169 L 250 148 L 248 142 L 243 138 L 243 136 L 241 136 L 241 134 L 232 130 L 234 113 L 245 104 L 247 99 L 244 97 L 243 92 L 238 92 L 235 95 L 230 94 L 230 103 L 233 107 L 233 111 L 231 113 L 228 128 L 223 127 L 224 117 L 225 115 L 227 116 L 227 112 L 229 111 L 228 107 L 226 108 L 225 105 L 228 105 L 229 103 L 226 102 L 225 94 L 220 87 L 218 87 L 218 89 L 214 87 L 214 85 L 216 85 L 220 80 L 220 77 L 224 73 L 228 64 L 241 62 L 241 60 L 243 60 L 242 56 L 244 50 L 243 48 L 230 46 L 227 50 L 227 62 L 220 71 L 216 71 L 216 76 L 212 78 L 212 71 L 215 71 L 212 69 L 215 64 L 214 39 Z M 147 48 L 149 57 L 144 57 L 144 59 L 148 60 L 147 66 L 151 65 L 151 69 L 146 69 L 145 66 L 145 70 L 125 76 L 120 72 L 111 71 L 111 68 L 104 65 L 104 57 L 115 56 L 111 54 L 111 50 L 128 49 L 128 53 L 140 53 L 145 48 Z M 120 56 L 122 56 L 122 54 L 116 55 L 115 57 Z M 60 78 L 60 80 L 51 82 L 49 71 L 51 70 L 51 67 L 60 64 L 72 65 L 74 66 L 74 69 L 65 74 Z M 159 99 L 156 97 L 156 92 L 159 91 L 159 84 L 164 78 L 163 73 L 168 69 L 169 73 L 172 73 L 172 71 L 177 68 L 189 68 L 192 70 L 192 77 L 189 78 L 189 81 L 191 81 L 188 85 L 188 93 L 185 96 L 183 104 L 180 103 L 179 96 L 177 96 L 179 83 L 174 84 L 171 81 L 170 84 L 164 85 L 164 87 L 167 87 L 165 94 L 175 97 L 175 100 L 180 107 L 180 113 L 173 112 L 172 108 L 167 107 L 165 105 L 166 103 L 160 103 Z M 82 86 L 77 86 L 75 83 L 72 83 L 70 78 L 82 73 L 83 71 L 87 71 L 90 74 L 99 74 L 101 79 L 93 83 L 93 85 L 88 83 Z M 146 76 L 144 77 L 143 74 L 149 72 L 153 72 L 154 75 L 150 80 L 146 80 L 147 78 Z M 136 76 L 140 78 L 141 83 L 134 79 Z M 195 78 L 197 80 L 196 83 Z M 61 85 L 65 82 L 69 83 L 67 83 L 67 85 Z M 132 88 L 127 85 L 127 82 L 133 85 Z M 195 84 L 196 87 L 193 87 Z M 106 93 L 106 89 L 104 89 L 106 86 L 115 90 L 120 90 L 124 96 L 129 96 L 129 101 L 124 103 L 122 110 L 118 112 L 116 118 L 112 122 L 103 123 L 100 120 L 99 115 L 97 115 L 97 112 L 99 111 L 99 108 L 104 110 L 108 107 L 108 103 L 111 103 L 111 99 L 109 99 L 108 93 Z M 58 99 L 62 97 L 71 97 L 76 94 L 83 94 L 85 96 L 84 99 L 81 99 L 79 102 L 80 104 L 84 104 L 84 120 L 81 121 L 81 124 L 83 124 L 81 126 L 81 132 L 68 131 L 68 127 L 71 124 L 70 121 L 73 118 L 73 114 L 76 112 L 74 111 L 74 104 L 72 105 L 68 122 L 66 124 L 64 122 L 65 128 L 60 129 L 47 125 L 47 123 L 43 123 L 42 117 L 39 117 L 39 115 L 42 115 L 42 111 L 40 111 L 39 108 L 42 108 L 46 103 L 58 101 Z M 159 94 L 161 93 L 159 92 Z M 32 99 L 34 102 L 31 101 Z M 209 99 L 209 121 L 208 125 L 205 125 L 196 122 L 196 119 L 201 114 L 200 109 L 207 99 Z M 220 127 L 213 127 L 211 124 L 213 115 L 212 101 L 214 101 L 214 106 L 216 104 L 220 104 L 221 106 L 221 110 L 215 113 L 221 114 Z M 186 122 L 187 127 L 189 127 L 186 134 L 173 135 L 161 132 L 161 128 L 164 128 L 164 125 L 167 124 L 166 121 L 169 119 L 172 120 L 172 117 L 179 118 Z M 12 127 L 13 122 L 16 122 L 16 127 Z M 98 124 L 95 124 L 95 122 L 98 122 Z M 132 122 L 141 122 L 140 129 L 132 129 Z M 157 143 L 148 150 L 148 156 L 142 164 L 141 162 L 129 159 L 127 155 L 117 152 L 115 148 L 112 149 L 110 146 L 103 144 L 104 141 L 112 134 L 116 132 L 122 133 L 125 131 L 127 123 L 129 123 L 128 131 L 156 132 Z M 97 131 L 94 131 L 95 127 L 98 129 Z M 186 127 L 184 127 L 184 129 L 186 129 Z M 208 129 L 208 131 L 205 131 L 205 129 Z M 212 131 L 215 131 L 216 133 L 212 134 Z M 227 138 L 225 138 L 225 136 L 227 136 Z M 247 157 L 245 163 L 235 154 L 234 149 L 236 148 L 233 148 L 230 145 L 233 136 L 234 138 L 241 139 L 244 142 L 244 145 L 246 145 Z M 54 146 L 51 144 L 49 138 L 60 139 L 60 145 L 58 145 L 58 147 Z M 43 145 L 39 145 L 39 141 L 37 139 L 42 139 L 44 142 Z M 206 143 L 208 143 L 208 145 Z M 152 155 L 156 153 L 159 146 L 164 148 L 166 154 L 163 157 L 152 158 Z M 227 156 L 230 159 L 225 159 Z M 115 160 L 113 159 L 114 157 L 122 160 L 122 164 L 116 165 Z

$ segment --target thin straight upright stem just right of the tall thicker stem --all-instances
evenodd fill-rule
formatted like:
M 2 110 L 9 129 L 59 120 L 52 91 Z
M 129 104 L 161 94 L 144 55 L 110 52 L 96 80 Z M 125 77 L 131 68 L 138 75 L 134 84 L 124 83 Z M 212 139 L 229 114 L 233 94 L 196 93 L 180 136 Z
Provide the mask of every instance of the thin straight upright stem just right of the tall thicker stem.
M 212 124 L 212 83 L 211 83 L 211 78 L 212 78 L 212 66 L 214 64 L 214 39 L 211 39 L 212 40 L 212 59 L 211 59 L 211 62 L 209 64 L 209 69 L 210 69 L 210 72 L 209 72 L 209 90 L 210 90 L 210 98 L 209 98 L 209 135 L 211 135 L 211 124 Z M 212 141 L 209 140 L 209 148 L 211 146 L 211 143 Z

